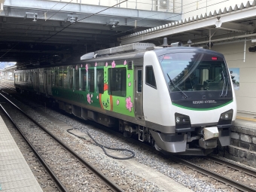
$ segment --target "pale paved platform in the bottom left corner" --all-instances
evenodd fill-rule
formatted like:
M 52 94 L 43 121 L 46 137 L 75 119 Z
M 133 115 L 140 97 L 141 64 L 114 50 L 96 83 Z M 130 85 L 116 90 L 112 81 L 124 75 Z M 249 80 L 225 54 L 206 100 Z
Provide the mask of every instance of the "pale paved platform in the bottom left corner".
M 42 192 L 16 142 L 0 116 L 0 191 Z

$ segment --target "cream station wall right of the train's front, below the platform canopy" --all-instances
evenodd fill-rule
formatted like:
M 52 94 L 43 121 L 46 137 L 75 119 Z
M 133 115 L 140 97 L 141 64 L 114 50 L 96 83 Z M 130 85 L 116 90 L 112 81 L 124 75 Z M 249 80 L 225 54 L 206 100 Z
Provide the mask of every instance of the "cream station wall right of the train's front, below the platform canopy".
M 256 113 L 256 52 L 248 52 L 248 47 L 256 44 L 246 41 L 245 62 L 244 41 L 233 44 L 215 44 L 212 50 L 223 53 L 229 68 L 240 69 L 240 86 L 235 90 L 237 110 Z

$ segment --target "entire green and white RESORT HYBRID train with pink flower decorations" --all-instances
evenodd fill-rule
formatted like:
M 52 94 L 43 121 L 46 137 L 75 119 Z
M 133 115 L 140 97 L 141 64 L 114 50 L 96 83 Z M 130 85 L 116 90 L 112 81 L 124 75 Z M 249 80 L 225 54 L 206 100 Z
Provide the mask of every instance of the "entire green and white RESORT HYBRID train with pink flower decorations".
M 16 70 L 15 87 L 175 154 L 206 155 L 230 145 L 236 118 L 224 56 L 195 47 L 136 43 L 99 50 L 81 62 Z

